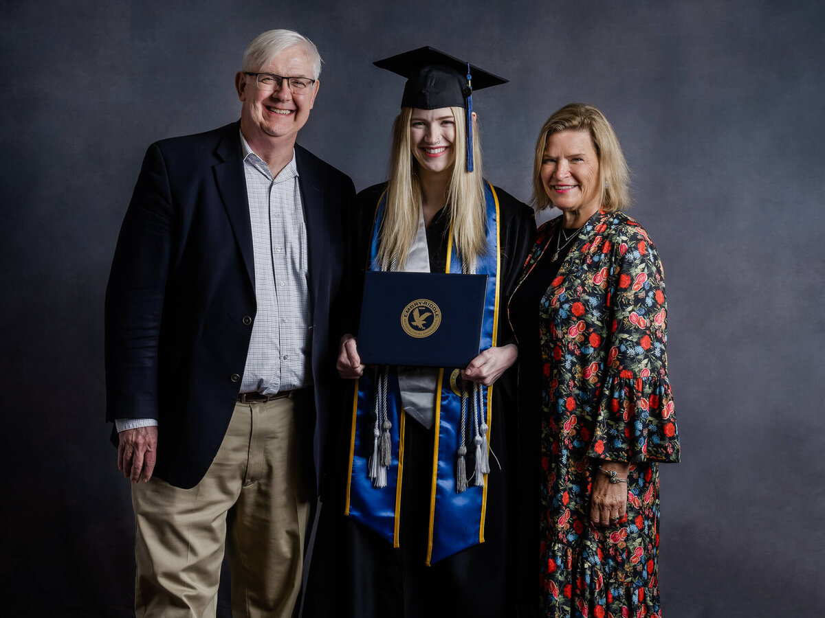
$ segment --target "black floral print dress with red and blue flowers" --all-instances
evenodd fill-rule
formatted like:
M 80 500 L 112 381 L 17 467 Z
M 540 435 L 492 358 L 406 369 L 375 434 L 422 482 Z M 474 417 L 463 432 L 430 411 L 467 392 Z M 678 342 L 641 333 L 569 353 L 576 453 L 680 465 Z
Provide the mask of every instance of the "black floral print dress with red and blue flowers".
M 522 281 L 560 223 L 540 227 Z M 662 265 L 647 232 L 624 213 L 596 213 L 538 311 L 541 616 L 660 616 L 657 462 L 679 461 L 679 442 Z M 590 522 L 598 460 L 630 463 L 627 516 L 609 527 Z

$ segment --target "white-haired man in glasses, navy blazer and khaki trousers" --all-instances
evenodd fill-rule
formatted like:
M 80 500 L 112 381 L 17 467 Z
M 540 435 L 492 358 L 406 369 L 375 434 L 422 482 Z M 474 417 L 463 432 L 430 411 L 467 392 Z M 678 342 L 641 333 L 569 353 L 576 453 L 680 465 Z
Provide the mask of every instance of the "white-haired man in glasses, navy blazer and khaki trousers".
M 234 616 L 295 606 L 354 194 L 295 145 L 320 68 L 304 36 L 258 36 L 235 77 L 240 123 L 149 147 L 125 216 L 106 414 L 132 480 L 138 616 L 214 616 L 224 542 Z

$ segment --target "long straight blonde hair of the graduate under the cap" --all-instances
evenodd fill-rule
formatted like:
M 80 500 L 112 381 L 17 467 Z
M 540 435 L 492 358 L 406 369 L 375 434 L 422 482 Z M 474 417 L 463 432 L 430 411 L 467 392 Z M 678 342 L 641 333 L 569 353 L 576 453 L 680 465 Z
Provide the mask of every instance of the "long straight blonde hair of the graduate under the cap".
M 467 129 L 464 108 L 450 107 L 455 119 L 455 162 L 446 195 L 449 208 L 453 250 L 465 267 L 472 268 L 476 258 L 487 252 L 487 208 L 479 128 L 473 119 L 473 167 L 467 171 Z M 393 145 L 389 160 L 386 208 L 380 230 L 378 260 L 381 268 L 402 269 L 418 232 L 422 208 L 422 187 L 418 162 L 410 141 L 412 107 L 401 108 L 393 124 Z

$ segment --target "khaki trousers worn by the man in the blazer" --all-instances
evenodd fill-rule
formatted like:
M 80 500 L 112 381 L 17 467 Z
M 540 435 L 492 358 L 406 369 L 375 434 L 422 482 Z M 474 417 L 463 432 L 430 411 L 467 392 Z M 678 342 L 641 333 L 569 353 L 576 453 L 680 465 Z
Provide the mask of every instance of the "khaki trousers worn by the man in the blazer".
M 295 404 L 292 397 L 236 404 L 218 454 L 192 489 L 157 478 L 132 485 L 137 616 L 214 617 L 224 544 L 233 618 L 292 615 L 309 517 L 296 422 L 308 412 Z

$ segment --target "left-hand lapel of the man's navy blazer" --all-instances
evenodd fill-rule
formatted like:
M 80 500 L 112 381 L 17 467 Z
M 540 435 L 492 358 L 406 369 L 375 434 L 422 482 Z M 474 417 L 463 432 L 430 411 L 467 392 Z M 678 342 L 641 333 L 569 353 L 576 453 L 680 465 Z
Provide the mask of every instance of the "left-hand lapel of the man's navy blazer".
M 232 225 L 235 241 L 243 257 L 249 281 L 255 286 L 255 257 L 252 253 L 252 224 L 249 222 L 249 198 L 246 176 L 243 174 L 240 127 L 229 124 L 221 137 L 215 155 L 219 162 L 214 165 L 214 180 L 224 202 L 226 214 Z

